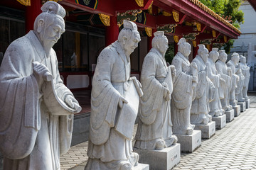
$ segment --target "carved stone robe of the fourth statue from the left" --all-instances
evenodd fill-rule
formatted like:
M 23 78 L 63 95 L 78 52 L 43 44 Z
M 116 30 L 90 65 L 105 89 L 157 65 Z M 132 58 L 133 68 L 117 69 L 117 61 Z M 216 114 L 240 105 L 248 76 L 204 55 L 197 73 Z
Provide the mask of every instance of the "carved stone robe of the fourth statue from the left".
M 190 123 L 191 103 L 193 101 L 193 87 L 190 62 L 181 52 L 177 52 L 171 62 L 176 68 L 174 91 L 171 98 L 171 120 L 174 134 L 187 134 L 193 130 Z

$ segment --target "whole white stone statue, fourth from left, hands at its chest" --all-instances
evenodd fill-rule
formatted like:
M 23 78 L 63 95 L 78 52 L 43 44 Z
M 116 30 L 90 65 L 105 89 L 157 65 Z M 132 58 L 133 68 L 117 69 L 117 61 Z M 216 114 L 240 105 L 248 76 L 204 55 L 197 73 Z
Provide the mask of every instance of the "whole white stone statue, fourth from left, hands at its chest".
M 178 52 L 171 64 L 176 68 L 174 91 L 171 98 L 171 120 L 174 134 L 191 135 L 195 125 L 191 125 L 190 112 L 193 101 L 193 89 L 196 87 L 196 63 L 188 61 L 191 45 L 185 38 L 178 41 Z

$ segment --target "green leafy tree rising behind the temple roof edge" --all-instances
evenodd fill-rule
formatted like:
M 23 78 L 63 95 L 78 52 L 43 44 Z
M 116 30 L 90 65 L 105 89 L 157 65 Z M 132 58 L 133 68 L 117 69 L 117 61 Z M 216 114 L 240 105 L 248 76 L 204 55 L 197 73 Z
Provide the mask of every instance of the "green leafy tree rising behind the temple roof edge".
M 240 28 L 240 24 L 244 22 L 244 13 L 239 10 L 242 0 L 201 0 L 203 4 L 208 6 L 215 13 L 218 13 L 224 18 L 230 17 L 232 20 L 233 26 Z M 226 52 L 230 52 L 230 48 L 233 46 L 234 40 L 229 40 L 223 48 Z

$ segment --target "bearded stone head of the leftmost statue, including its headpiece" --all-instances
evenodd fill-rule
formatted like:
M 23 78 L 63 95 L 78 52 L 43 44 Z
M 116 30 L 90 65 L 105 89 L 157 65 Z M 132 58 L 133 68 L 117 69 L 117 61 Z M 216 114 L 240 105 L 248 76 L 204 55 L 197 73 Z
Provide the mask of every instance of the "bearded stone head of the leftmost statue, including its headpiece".
M 39 14 L 34 22 L 34 33 L 38 36 L 43 47 L 53 47 L 65 32 L 65 9 L 55 1 L 47 1 L 41 7 L 42 13 Z

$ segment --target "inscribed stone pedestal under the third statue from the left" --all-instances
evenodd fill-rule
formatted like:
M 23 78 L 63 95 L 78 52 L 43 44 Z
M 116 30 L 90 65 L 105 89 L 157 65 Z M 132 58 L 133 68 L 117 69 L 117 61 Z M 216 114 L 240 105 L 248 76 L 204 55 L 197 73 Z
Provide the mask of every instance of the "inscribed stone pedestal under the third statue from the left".
M 139 162 L 149 164 L 150 169 L 173 169 L 181 161 L 181 145 L 177 143 L 161 150 L 134 149 L 139 154 Z

